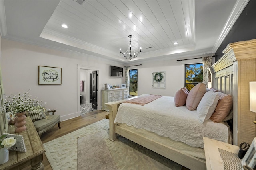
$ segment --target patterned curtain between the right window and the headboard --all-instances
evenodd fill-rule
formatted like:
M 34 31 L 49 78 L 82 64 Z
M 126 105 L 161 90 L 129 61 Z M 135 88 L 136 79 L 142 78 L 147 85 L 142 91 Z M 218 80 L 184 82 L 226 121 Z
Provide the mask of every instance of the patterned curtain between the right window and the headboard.
M 208 82 L 211 82 L 211 74 L 208 67 L 212 66 L 212 56 L 203 57 L 203 83 L 208 87 Z

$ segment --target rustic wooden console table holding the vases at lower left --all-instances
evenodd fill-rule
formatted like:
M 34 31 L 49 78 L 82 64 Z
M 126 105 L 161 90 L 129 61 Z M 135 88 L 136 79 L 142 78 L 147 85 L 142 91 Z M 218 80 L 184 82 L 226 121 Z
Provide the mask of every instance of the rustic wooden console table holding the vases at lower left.
M 32 170 L 44 170 L 42 141 L 30 117 L 26 117 L 26 131 L 15 133 L 15 126 L 8 126 L 8 133 L 23 135 L 27 152 L 9 150 L 9 161 L 0 165 L 0 170 L 20 170 L 31 165 Z

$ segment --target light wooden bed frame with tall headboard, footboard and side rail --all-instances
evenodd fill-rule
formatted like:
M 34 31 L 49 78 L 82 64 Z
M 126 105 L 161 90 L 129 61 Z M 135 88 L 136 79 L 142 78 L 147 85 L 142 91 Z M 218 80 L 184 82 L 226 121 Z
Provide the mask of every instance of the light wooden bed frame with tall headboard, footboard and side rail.
M 250 127 L 250 136 L 247 135 L 242 139 L 241 142 L 245 141 L 251 143 L 252 139 L 255 137 L 255 125 L 253 122 L 248 123 L 247 121 L 242 124 L 241 119 L 248 120 L 248 116 L 250 116 L 253 117 L 252 121 L 255 120 L 255 113 L 252 115 L 252 112 L 249 113 L 250 109 L 248 109 L 249 99 L 246 98 L 248 98 L 249 94 L 248 92 L 244 91 L 248 91 L 249 81 L 256 80 L 256 39 L 231 43 L 226 47 L 226 49 L 224 49 L 223 52 L 224 55 L 215 64 L 213 64 L 212 67 L 209 68 L 212 74 L 212 85 L 216 90 L 226 94 L 231 94 L 233 96 L 234 145 L 240 144 L 242 139 L 241 132 L 245 131 L 245 129 L 243 130 L 244 127 L 246 127 L 247 131 L 248 127 Z M 250 69 L 247 66 L 246 69 L 243 70 L 242 67 L 246 64 L 250 65 Z M 242 76 L 245 76 L 246 74 L 250 74 L 251 77 L 246 76 L 247 79 L 244 80 L 245 78 L 242 78 Z M 248 84 L 248 87 L 245 88 L 244 86 L 241 86 L 241 84 Z M 241 88 L 244 89 L 242 90 Z M 130 99 L 132 98 L 125 100 Z M 184 154 L 178 149 L 170 147 L 168 145 L 169 139 L 166 137 L 160 137 L 155 133 L 144 131 L 143 129 L 134 130 L 134 128 L 132 129 L 128 126 L 114 125 L 114 119 L 116 117 L 118 107 L 125 100 L 106 103 L 110 111 L 110 140 L 114 141 L 116 139 L 116 134 L 119 134 L 191 170 L 206 169 L 206 162 L 204 160 Z M 242 100 L 246 100 L 247 104 L 244 104 L 246 101 L 242 102 Z M 242 106 L 242 104 L 244 104 L 244 106 Z M 244 116 L 240 114 L 242 107 L 246 107 L 247 109 L 243 110 L 246 112 L 243 114 Z

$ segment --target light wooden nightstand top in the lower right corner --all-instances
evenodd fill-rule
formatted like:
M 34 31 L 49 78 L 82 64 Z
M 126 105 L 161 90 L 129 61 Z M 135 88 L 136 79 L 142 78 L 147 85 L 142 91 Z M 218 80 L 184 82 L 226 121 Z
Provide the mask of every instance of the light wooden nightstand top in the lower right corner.
M 238 158 L 238 146 L 216 141 L 207 137 L 203 137 L 203 139 L 207 170 L 242 169 L 241 159 Z M 225 155 L 224 157 L 221 157 L 220 153 L 227 154 L 228 156 Z M 222 162 L 223 158 L 225 162 Z M 237 168 L 230 167 L 228 162 L 231 163 L 231 166 L 236 166 Z

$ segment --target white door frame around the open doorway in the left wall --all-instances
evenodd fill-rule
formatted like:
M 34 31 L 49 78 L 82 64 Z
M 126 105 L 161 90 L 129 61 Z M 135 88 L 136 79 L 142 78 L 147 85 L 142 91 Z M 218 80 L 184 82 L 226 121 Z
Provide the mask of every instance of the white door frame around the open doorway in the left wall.
M 77 113 L 79 113 L 79 116 L 80 116 L 80 70 L 82 69 L 82 70 L 95 70 L 95 71 L 97 71 L 97 74 L 98 74 L 98 76 L 97 76 L 97 89 L 99 90 L 100 88 L 99 88 L 99 84 L 100 84 L 100 79 L 99 79 L 99 77 L 100 77 L 100 68 L 98 68 L 98 67 L 92 67 L 92 66 L 83 66 L 83 65 L 79 65 L 79 64 L 77 64 L 77 72 L 78 72 L 78 81 L 77 81 Z M 101 106 L 101 102 L 99 102 L 99 101 L 101 101 L 101 95 L 100 95 L 101 93 L 97 93 L 97 103 L 98 103 L 98 107 L 97 107 L 97 110 L 100 110 L 100 108 L 102 108 L 102 106 Z

